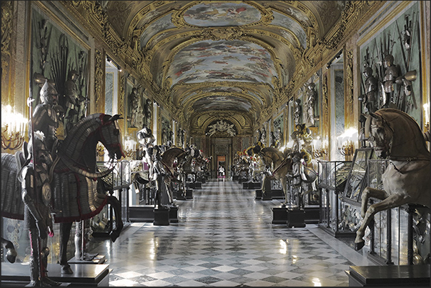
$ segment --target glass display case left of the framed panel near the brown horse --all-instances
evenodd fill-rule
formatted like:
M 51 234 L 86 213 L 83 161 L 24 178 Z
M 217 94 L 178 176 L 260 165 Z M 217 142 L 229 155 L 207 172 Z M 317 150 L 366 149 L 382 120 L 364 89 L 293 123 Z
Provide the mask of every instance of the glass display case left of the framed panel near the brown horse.
M 342 226 L 344 212 L 341 197 L 351 167 L 350 161 L 319 160 L 317 180 L 317 187 L 320 190 L 319 227 L 335 237 L 351 236 L 350 230 L 344 231 L 345 226 Z

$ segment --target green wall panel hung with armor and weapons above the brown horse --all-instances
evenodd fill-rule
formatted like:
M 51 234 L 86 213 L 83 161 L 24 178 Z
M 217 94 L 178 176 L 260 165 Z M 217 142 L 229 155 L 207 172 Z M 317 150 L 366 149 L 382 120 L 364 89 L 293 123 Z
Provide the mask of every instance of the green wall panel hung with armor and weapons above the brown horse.
M 395 108 L 422 124 L 421 23 L 420 3 L 412 2 L 360 46 L 364 113 Z M 373 81 L 377 89 L 370 89 Z

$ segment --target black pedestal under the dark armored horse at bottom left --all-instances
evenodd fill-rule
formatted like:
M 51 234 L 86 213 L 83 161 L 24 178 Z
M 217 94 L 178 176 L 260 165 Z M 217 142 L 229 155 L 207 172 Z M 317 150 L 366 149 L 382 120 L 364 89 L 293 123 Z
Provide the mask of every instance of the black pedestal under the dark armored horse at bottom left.
M 109 286 L 109 264 L 70 264 L 73 274 L 61 274 L 60 264 L 48 264 L 48 277 L 62 286 Z M 1 286 L 26 286 L 30 283 L 29 264 L 1 263 Z

